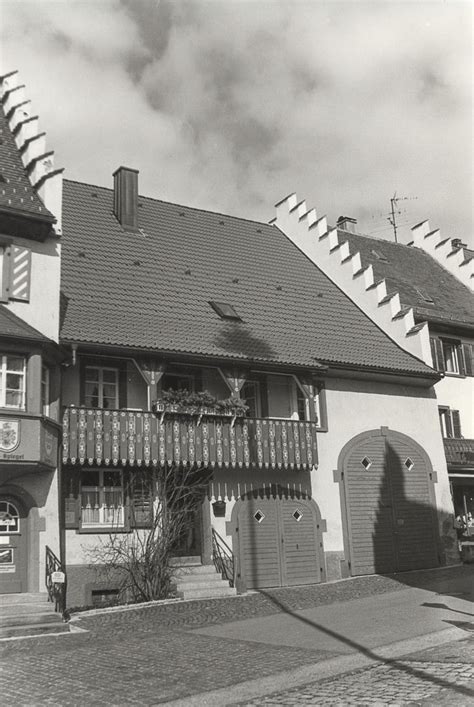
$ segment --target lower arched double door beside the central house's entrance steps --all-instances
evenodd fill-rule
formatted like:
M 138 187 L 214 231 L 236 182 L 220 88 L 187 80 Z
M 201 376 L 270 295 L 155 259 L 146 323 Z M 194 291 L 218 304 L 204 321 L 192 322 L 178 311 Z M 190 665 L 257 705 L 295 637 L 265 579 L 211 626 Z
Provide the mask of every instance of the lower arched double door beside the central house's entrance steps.
M 246 494 L 236 503 L 233 525 L 238 571 L 247 588 L 322 581 L 324 521 L 314 501 L 282 490 Z

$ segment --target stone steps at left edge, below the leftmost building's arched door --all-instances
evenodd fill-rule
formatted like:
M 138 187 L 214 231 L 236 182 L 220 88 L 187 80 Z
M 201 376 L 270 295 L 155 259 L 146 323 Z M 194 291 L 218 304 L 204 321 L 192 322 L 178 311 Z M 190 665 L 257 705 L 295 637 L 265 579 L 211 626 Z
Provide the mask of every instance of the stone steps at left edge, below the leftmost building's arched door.
M 46 593 L 0 594 L 0 639 L 69 633 Z

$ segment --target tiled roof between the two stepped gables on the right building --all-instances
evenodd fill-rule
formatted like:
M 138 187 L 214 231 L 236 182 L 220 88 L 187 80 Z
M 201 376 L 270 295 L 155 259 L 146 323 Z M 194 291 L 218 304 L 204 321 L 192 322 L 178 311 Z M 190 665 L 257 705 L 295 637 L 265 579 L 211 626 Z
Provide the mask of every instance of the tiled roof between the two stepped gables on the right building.
M 402 306 L 413 307 L 418 320 L 474 325 L 474 297 L 469 289 L 420 248 L 338 231 L 362 266 L 372 265 L 375 278 L 387 281 L 387 292 L 399 292 Z M 427 302 L 427 295 L 433 302 Z

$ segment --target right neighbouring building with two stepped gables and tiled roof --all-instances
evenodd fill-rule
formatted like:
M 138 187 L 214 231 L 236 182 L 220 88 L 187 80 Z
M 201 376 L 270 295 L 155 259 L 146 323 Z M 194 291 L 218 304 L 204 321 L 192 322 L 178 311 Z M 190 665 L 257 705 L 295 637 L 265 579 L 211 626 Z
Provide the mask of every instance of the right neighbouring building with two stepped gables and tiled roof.
M 286 209 L 286 213 L 285 213 Z M 442 374 L 436 384 L 440 426 L 459 535 L 474 535 L 474 252 L 442 238 L 427 221 L 402 245 L 335 228 L 295 195 L 277 224 L 394 341 Z

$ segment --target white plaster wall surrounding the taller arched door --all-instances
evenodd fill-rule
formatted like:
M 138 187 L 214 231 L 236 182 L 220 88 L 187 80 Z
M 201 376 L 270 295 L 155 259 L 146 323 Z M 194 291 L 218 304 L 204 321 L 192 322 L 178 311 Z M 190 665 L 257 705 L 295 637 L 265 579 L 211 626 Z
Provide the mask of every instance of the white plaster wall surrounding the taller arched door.
M 328 431 L 318 435 L 319 466 L 312 475 L 313 498 L 327 521 L 326 551 L 343 549 L 339 483 L 333 471 L 343 446 L 361 432 L 385 426 L 418 442 L 438 472 L 437 507 L 452 512 L 438 403 L 432 389 L 328 379 L 326 401 Z

